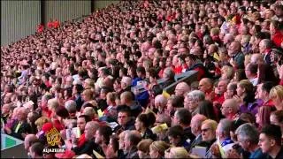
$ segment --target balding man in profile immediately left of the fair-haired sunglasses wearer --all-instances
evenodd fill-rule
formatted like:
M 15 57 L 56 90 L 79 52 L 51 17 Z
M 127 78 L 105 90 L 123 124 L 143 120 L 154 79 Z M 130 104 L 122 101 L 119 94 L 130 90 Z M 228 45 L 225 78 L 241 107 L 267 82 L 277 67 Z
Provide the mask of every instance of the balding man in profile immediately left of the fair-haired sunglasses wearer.
M 203 141 L 202 139 L 202 123 L 204 120 L 206 120 L 207 117 L 201 115 L 201 114 L 196 114 L 194 117 L 192 117 L 191 120 L 191 131 L 195 135 L 195 140 L 192 140 L 190 144 L 190 150 L 192 148 L 195 148 L 196 145 L 201 143 Z

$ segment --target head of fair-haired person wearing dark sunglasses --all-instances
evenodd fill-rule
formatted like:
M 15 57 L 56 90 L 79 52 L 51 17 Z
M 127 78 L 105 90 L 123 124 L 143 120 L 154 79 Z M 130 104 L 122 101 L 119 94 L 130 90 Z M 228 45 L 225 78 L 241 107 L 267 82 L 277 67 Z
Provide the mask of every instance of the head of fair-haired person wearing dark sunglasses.
M 206 119 L 202 123 L 202 137 L 203 141 L 211 141 L 216 139 L 216 128 L 218 126 L 218 122 Z

